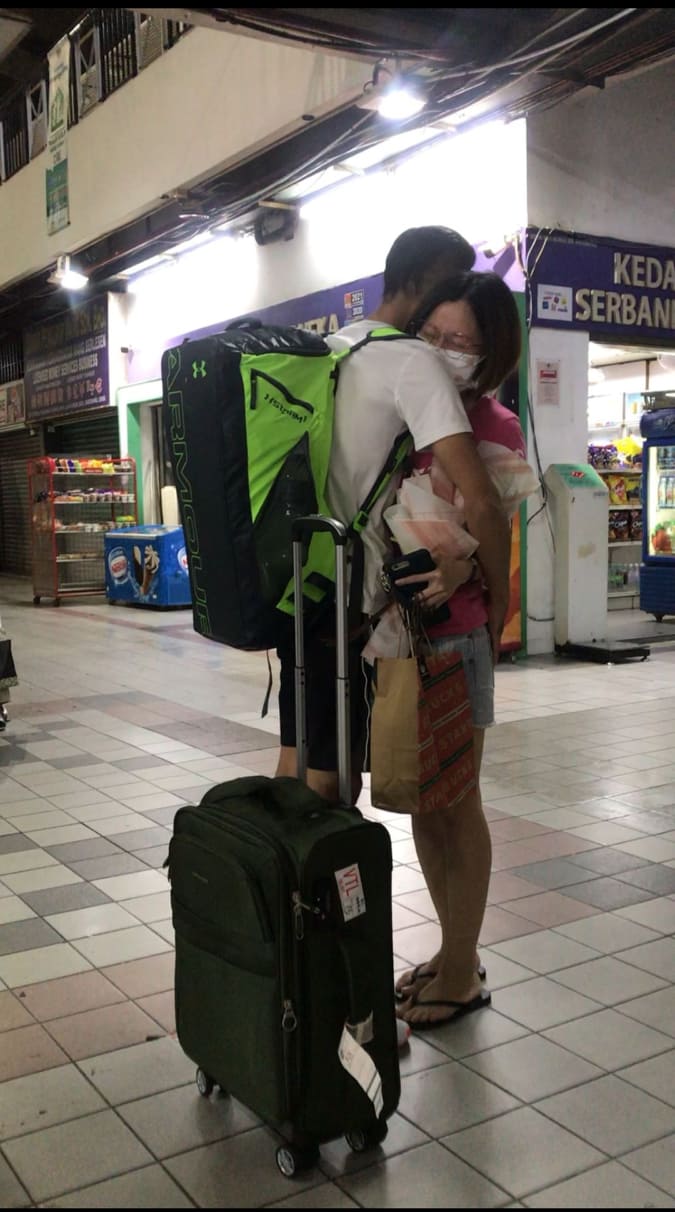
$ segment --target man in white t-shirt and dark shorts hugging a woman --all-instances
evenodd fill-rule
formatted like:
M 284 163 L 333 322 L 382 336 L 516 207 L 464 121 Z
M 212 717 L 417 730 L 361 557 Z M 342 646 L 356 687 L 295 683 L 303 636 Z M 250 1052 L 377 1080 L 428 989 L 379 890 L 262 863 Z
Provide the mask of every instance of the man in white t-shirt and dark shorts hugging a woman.
M 435 282 L 470 269 L 474 250 L 457 231 L 442 227 L 410 228 L 393 244 L 384 267 L 381 305 L 367 320 L 348 325 L 330 338 L 334 348 L 355 344 L 372 328 L 389 325 L 405 332 L 421 299 Z M 396 436 L 410 430 L 416 450 L 431 448 L 442 470 L 457 485 L 465 504 L 467 525 L 479 539 L 476 553 L 490 593 L 488 628 L 494 651 L 509 602 L 510 532 L 498 494 L 477 454 L 471 425 L 459 393 L 435 351 L 419 341 L 372 342 L 347 359 L 336 398 L 333 444 L 327 497 L 331 511 L 349 525 L 382 470 Z M 393 484 L 376 504 L 364 531 L 362 612 L 372 616 L 387 602 L 379 585 L 383 560 L 390 550 L 383 510 L 391 503 Z M 469 561 L 457 561 L 456 588 L 474 572 Z M 429 577 L 422 599 L 437 596 L 440 573 Z M 446 596 L 453 591 L 445 581 Z M 367 736 L 367 684 L 361 668 L 365 636 L 350 644 L 350 715 L 354 802 L 361 787 Z M 281 751 L 278 774 L 296 776 L 293 644 L 279 647 Z M 338 799 L 334 709 L 334 647 L 325 636 L 305 644 L 308 702 L 309 787 Z

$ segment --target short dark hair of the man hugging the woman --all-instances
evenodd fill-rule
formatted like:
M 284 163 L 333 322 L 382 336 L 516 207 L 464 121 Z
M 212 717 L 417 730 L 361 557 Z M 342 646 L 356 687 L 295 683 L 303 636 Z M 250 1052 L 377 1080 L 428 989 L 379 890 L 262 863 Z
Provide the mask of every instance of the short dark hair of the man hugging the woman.
M 476 255 L 459 231 L 444 227 L 408 228 L 394 240 L 384 264 L 384 298 L 419 293 L 430 279 L 471 269 Z

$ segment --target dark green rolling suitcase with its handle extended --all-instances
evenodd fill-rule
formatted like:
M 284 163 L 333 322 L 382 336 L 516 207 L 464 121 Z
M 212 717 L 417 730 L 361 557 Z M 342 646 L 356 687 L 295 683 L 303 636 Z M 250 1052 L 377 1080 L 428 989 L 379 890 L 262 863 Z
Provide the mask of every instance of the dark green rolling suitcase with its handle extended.
M 284 1174 L 342 1134 L 379 1144 L 400 1097 L 393 995 L 391 846 L 349 802 L 347 528 L 293 524 L 293 564 L 336 541 L 341 805 L 294 778 L 233 779 L 176 813 L 168 852 L 178 1040 L 214 1086 L 285 1138 Z M 302 617 L 296 619 L 299 771 L 305 770 Z

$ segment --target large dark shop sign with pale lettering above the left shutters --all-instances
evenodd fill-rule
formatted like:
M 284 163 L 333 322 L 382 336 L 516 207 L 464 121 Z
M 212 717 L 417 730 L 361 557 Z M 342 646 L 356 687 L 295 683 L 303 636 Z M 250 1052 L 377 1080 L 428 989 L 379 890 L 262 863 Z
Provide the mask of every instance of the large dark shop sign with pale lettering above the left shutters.
M 110 402 L 107 296 L 28 328 L 23 356 L 29 421 L 105 407 Z

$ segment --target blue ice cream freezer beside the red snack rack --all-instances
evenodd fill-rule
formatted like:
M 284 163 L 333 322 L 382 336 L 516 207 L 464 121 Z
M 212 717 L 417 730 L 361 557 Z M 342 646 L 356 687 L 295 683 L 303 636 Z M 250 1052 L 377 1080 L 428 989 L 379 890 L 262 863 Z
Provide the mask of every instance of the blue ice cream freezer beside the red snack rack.
M 105 595 L 141 606 L 190 606 L 182 526 L 133 526 L 105 534 Z

